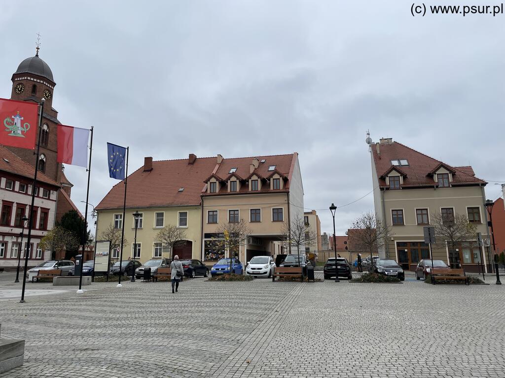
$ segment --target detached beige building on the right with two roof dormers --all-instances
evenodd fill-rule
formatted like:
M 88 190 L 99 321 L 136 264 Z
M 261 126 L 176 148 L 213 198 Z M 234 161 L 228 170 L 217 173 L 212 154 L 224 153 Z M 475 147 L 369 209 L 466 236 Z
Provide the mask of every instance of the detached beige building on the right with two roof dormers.
M 423 227 L 441 214 L 447 219 L 464 214 L 488 236 L 484 207 L 487 182 L 475 177 L 470 166 L 450 166 L 392 139 L 371 145 L 375 212 L 391 235 L 379 256 L 394 258 L 404 269 L 413 270 L 421 259 L 430 257 L 424 243 Z M 479 263 L 489 264 L 488 248 L 480 247 L 477 235 L 462 242 L 456 250 L 433 245 L 433 258 L 467 272 L 478 272 Z

